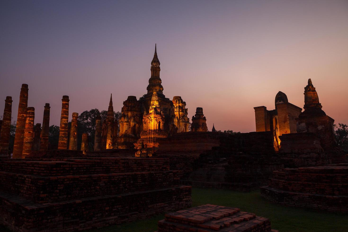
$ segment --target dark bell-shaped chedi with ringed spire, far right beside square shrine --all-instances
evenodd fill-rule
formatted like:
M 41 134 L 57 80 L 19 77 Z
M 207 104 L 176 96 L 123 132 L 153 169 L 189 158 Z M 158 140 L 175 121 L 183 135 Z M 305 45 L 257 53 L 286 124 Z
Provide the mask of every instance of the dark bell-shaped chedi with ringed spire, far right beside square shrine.
M 319 97 L 311 79 L 304 87 L 304 111 L 296 118 L 297 132 L 315 133 L 320 138 L 323 149 L 331 149 L 335 145 L 334 119 L 326 115 L 319 103 Z

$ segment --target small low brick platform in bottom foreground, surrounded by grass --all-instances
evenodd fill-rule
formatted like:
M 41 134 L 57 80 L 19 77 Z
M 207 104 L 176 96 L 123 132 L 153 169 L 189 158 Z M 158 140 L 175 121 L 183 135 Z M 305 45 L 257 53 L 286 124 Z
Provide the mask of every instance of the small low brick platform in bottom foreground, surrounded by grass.
M 165 215 L 158 232 L 273 231 L 268 218 L 241 212 L 238 208 L 201 205 Z

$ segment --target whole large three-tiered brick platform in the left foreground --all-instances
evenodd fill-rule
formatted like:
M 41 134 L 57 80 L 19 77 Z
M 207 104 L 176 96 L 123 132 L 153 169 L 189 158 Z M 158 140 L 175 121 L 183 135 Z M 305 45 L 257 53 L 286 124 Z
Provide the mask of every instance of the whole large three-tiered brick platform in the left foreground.
M 77 231 L 187 208 L 168 159 L 0 160 L 0 224 L 14 231 Z

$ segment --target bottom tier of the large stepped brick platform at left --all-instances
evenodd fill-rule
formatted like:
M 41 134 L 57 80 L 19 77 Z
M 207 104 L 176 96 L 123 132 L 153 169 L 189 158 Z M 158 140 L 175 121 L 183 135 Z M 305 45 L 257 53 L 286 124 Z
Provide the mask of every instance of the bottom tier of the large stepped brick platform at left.
M 190 205 L 190 186 L 47 204 L 34 203 L 14 194 L 0 192 L 0 224 L 22 232 L 88 230 L 148 218 Z

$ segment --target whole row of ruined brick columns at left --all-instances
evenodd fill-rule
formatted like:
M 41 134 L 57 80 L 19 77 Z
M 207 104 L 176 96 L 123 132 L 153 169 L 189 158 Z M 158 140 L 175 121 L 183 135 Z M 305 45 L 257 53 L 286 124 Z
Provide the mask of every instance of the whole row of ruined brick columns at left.
M 14 139 L 13 158 L 25 158 L 31 151 L 46 151 L 48 150 L 49 136 L 49 119 L 50 106 L 45 104 L 44 118 L 41 123 L 36 123 L 34 127 L 35 109 L 27 107 L 28 104 L 28 85 L 22 84 L 21 93 L 19 95 L 18 115 L 16 133 Z M 8 155 L 9 139 L 12 117 L 12 97 L 7 96 L 5 99 L 5 109 L 3 119 L 0 126 L 0 154 Z M 111 103 L 112 104 L 112 103 Z M 72 113 L 70 138 L 68 147 L 68 119 L 69 119 L 69 96 L 64 95 L 62 98 L 61 122 L 58 139 L 58 149 L 62 150 L 77 150 L 77 124 L 79 114 Z M 111 116 L 108 115 L 109 117 Z M 113 116 L 113 115 L 112 115 Z M 111 128 L 111 127 L 110 127 Z M 101 150 L 101 133 L 102 124 L 101 116 L 96 117 L 96 129 L 94 138 L 94 150 Z M 112 135 L 111 135 L 112 136 Z M 82 134 L 81 150 L 84 154 L 88 151 L 88 134 Z

